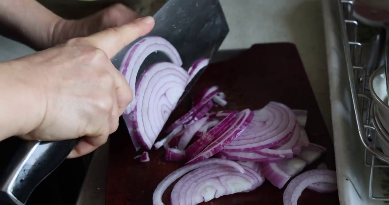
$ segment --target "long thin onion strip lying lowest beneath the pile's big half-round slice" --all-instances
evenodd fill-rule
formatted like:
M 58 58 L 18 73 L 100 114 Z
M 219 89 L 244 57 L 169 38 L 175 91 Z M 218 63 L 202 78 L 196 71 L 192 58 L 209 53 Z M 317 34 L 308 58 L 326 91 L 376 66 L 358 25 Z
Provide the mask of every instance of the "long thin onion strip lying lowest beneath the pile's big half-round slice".
M 255 152 L 227 152 L 220 151 L 217 153 L 217 157 L 229 159 L 229 160 L 240 160 L 249 162 L 279 162 L 282 158 L 270 158 L 268 156 L 259 155 Z

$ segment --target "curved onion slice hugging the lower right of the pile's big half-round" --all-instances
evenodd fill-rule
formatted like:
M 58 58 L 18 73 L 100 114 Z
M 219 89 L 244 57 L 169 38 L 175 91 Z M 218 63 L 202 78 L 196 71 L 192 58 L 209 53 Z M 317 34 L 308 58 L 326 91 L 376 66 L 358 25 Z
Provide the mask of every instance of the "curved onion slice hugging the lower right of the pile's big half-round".
M 261 149 L 259 151 L 256 151 L 256 153 L 273 158 L 292 158 L 292 148 L 296 145 L 298 139 L 300 138 L 300 134 L 300 126 L 296 125 L 293 135 L 289 138 L 289 140 L 282 142 L 281 144 L 273 148 Z

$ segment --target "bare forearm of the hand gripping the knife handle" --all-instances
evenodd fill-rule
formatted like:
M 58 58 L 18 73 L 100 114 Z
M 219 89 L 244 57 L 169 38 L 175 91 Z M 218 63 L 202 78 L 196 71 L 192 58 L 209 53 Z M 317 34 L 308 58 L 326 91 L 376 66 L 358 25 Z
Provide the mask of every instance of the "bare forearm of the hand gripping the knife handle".
M 11 61 L 0 63 L 0 141 L 27 134 L 43 118 L 42 94 L 26 80 L 25 71 L 29 69 L 19 68 Z

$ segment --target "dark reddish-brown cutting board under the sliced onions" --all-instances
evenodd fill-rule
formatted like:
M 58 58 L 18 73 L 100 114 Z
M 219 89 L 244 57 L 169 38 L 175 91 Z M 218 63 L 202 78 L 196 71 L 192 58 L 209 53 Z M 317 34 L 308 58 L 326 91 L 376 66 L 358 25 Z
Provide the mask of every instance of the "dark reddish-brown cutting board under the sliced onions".
M 218 85 L 226 94 L 226 109 L 253 110 L 262 108 L 269 101 L 277 101 L 292 109 L 308 110 L 306 131 L 310 142 L 320 144 L 328 151 L 305 170 L 315 169 L 323 162 L 328 169 L 335 170 L 333 144 L 294 44 L 256 44 L 227 61 L 210 64 L 192 92 L 212 85 Z M 184 115 L 190 106 L 188 97 L 172 113 L 169 122 Z M 152 194 L 159 182 L 183 165 L 164 162 L 164 149 L 149 151 L 150 162 L 145 163 L 133 159 L 140 153 L 142 150 L 135 152 L 121 122 L 110 138 L 106 205 L 152 205 Z M 166 205 L 170 204 L 172 188 L 170 186 L 163 196 Z M 201 205 L 282 205 L 284 189 L 266 181 L 249 193 L 222 196 Z M 305 190 L 298 204 L 336 205 L 339 204 L 338 194 Z

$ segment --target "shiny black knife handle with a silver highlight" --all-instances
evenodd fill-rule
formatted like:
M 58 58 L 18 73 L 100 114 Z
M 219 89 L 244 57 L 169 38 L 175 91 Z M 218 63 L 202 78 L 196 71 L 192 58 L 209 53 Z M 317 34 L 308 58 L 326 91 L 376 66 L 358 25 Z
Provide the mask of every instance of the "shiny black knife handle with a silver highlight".
M 79 140 L 23 141 L 1 177 L 0 197 L 24 205 L 35 187 L 65 160 Z

